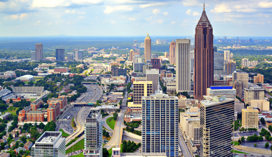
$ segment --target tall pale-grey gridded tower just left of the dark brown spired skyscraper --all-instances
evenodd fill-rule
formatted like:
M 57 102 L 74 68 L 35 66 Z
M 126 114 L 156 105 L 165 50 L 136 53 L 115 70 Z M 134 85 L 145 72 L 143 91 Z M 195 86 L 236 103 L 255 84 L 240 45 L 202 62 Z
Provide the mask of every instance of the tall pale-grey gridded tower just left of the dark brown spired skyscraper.
M 176 39 L 176 92 L 191 90 L 191 40 Z

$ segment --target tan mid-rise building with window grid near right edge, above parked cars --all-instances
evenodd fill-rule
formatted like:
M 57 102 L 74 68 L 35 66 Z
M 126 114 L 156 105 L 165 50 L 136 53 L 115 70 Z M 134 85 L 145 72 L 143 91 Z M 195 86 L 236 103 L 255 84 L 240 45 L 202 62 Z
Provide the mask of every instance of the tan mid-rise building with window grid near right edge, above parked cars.
M 259 111 L 251 106 L 247 106 L 247 109 L 242 110 L 242 127 L 248 128 L 259 128 Z

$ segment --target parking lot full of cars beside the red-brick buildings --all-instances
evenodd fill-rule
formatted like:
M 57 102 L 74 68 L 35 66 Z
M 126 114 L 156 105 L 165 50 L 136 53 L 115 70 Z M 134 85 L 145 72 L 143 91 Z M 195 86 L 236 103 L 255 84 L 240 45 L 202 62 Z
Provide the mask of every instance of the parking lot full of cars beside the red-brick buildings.
M 69 113 L 67 113 L 63 119 L 67 119 L 66 121 L 61 121 L 61 128 L 65 129 L 69 133 L 74 133 L 74 128 L 71 125 L 71 120 L 77 114 L 77 112 L 81 109 L 81 107 L 74 107 Z

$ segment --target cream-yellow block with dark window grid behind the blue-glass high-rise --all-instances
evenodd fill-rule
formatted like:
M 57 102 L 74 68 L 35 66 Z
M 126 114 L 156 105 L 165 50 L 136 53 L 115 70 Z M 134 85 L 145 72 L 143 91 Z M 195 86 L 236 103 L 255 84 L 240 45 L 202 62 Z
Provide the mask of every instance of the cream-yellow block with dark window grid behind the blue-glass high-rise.
M 152 81 L 133 81 L 133 105 L 142 105 L 142 97 L 152 94 Z

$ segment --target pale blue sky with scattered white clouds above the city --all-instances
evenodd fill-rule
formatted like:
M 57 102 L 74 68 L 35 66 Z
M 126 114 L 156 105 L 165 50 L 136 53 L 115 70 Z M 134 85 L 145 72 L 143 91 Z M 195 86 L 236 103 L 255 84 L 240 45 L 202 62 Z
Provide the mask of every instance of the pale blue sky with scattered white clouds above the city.
M 272 36 L 272 0 L 0 0 L 0 37 L 194 36 L 204 2 L 215 36 Z

